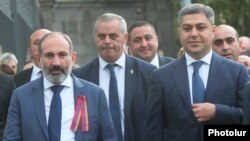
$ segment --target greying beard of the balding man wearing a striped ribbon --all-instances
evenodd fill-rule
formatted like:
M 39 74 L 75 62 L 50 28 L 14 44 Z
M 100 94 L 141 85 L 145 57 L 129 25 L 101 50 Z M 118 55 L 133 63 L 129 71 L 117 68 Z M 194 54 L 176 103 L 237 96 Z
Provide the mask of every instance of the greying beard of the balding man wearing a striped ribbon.
M 61 84 L 72 71 L 71 65 L 66 68 L 63 68 L 61 66 L 51 66 L 51 67 L 42 66 L 42 68 L 45 78 L 47 78 L 48 81 L 53 84 Z M 61 73 L 52 74 L 52 71 L 61 71 Z

